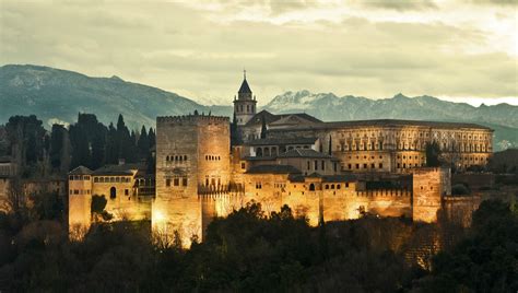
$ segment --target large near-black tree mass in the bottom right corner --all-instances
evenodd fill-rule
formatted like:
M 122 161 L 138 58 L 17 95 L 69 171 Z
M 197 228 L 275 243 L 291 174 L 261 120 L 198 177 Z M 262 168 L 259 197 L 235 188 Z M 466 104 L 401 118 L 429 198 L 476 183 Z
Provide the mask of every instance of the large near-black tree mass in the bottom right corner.
M 516 292 L 518 216 L 509 203 L 486 200 L 473 213 L 471 233 L 433 260 L 419 292 Z

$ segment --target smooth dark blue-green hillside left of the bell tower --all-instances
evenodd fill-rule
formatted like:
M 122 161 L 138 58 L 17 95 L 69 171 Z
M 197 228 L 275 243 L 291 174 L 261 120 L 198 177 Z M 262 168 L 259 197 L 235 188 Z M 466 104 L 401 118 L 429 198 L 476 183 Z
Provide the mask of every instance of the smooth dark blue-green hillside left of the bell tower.
M 12 115 L 35 114 L 46 127 L 72 122 L 78 113 L 94 113 L 108 124 L 118 114 L 132 128 L 154 125 L 156 116 L 183 115 L 198 109 L 229 115 L 231 107 L 197 104 L 175 93 L 131 83 L 118 77 L 91 78 L 81 73 L 38 66 L 0 68 L 0 124 Z

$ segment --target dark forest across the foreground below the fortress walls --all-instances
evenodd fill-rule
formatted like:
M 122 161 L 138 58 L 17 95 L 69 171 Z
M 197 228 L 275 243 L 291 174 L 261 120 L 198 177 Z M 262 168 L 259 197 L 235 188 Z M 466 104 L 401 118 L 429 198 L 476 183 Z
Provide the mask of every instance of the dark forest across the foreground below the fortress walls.
M 34 209 L 31 221 L 0 213 L 1 291 L 518 290 L 518 209 L 498 200 L 484 201 L 455 243 L 429 251 L 428 268 L 409 262 L 409 251 L 423 235 L 440 236 L 440 222 L 365 214 L 311 227 L 286 206 L 267 216 L 250 202 L 215 219 L 202 243 L 193 237 L 183 249 L 179 235 L 160 242 L 145 221 L 98 223 L 71 242 L 59 207 L 38 202 Z

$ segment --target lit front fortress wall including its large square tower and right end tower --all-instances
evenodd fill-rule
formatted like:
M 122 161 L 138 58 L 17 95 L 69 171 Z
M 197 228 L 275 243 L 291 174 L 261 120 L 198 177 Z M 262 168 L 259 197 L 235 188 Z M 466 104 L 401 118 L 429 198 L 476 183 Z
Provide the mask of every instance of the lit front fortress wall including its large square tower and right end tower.
M 249 173 L 255 165 L 252 161 L 234 157 L 235 154 L 231 157 L 228 127 L 228 119 L 220 117 L 157 119 L 157 194 L 152 216 L 154 232 L 172 239 L 174 231 L 178 231 L 188 246 L 191 235 L 197 235 L 199 239 L 202 237 L 203 227 L 213 216 L 226 216 L 250 201 L 260 202 L 267 214 L 287 204 L 296 215 L 306 216 L 311 225 L 317 225 L 321 220 L 357 219 L 362 213 L 434 222 L 442 208 L 442 199 L 450 195 L 449 169 L 426 168 L 422 165 L 400 172 L 413 176 L 413 187 L 379 189 L 368 189 L 365 181 L 354 177 L 331 180 L 305 175 L 301 181 L 299 178 L 293 179 L 290 173 Z M 320 139 L 325 140 L 326 137 Z M 368 146 L 363 148 L 367 148 L 363 152 L 372 152 Z M 389 151 L 380 150 L 379 153 L 382 152 Z M 170 163 L 174 156 L 183 157 L 183 162 Z M 245 168 L 242 163 L 245 163 Z M 298 163 L 305 166 L 306 162 Z M 392 162 L 386 164 L 393 165 Z M 188 186 L 181 186 L 181 180 L 179 186 L 167 186 L 167 176 L 176 175 L 187 177 Z M 226 188 L 237 179 L 233 175 L 238 176 L 243 190 Z M 192 183 L 195 185 L 189 185 Z

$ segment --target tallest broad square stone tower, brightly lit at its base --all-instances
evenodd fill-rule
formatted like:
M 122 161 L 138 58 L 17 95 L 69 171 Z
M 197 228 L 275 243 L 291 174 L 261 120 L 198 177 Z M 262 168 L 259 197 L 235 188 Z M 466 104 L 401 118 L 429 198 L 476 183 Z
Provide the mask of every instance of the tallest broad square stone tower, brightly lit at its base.
M 187 115 L 156 118 L 156 198 L 153 231 L 184 245 L 202 235 L 199 195 L 224 192 L 231 181 L 228 117 Z

